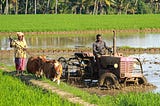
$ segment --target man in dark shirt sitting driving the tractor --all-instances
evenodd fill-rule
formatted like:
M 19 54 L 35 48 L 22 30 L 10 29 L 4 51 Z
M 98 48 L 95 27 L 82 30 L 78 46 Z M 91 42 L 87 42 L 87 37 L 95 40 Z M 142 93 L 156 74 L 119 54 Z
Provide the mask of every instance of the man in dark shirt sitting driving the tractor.
M 93 55 L 95 56 L 98 69 L 100 68 L 100 57 L 106 54 L 106 49 L 109 50 L 110 48 L 102 40 L 102 36 L 97 34 L 96 41 L 93 43 Z

